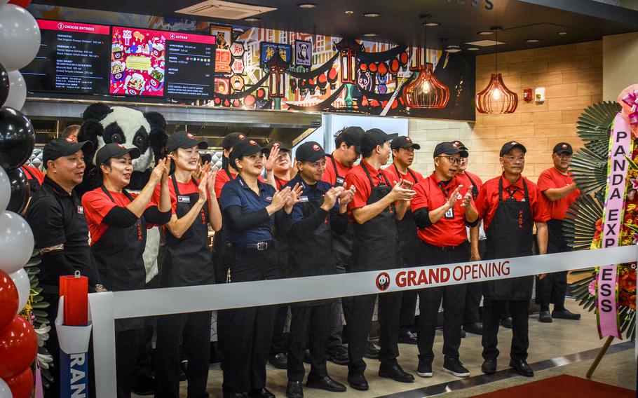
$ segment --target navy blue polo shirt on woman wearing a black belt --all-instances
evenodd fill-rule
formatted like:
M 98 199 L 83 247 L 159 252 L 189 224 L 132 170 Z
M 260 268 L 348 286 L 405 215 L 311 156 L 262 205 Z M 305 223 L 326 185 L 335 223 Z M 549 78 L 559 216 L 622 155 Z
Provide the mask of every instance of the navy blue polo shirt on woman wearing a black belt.
M 259 186 L 259 196 L 246 184 L 243 178 L 238 175 L 236 179 L 228 181 L 222 188 L 222 195 L 219 195 L 219 206 L 222 212 L 230 206 L 240 206 L 243 214 L 264 210 L 273 201 L 275 188 L 262 181 L 257 181 Z M 248 244 L 258 242 L 270 242 L 273 240 L 272 228 L 275 225 L 275 214 L 269 220 L 257 227 L 246 231 L 233 230 L 231 226 L 224 226 L 226 241 L 231 243 Z

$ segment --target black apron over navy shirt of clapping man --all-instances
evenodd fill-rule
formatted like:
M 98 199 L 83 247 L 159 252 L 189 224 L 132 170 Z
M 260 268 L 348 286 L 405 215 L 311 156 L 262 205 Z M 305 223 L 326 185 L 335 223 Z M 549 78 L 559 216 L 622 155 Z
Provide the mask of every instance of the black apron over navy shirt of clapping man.
M 311 217 L 323 205 L 323 198 L 301 203 L 304 219 Z M 312 248 L 309 250 L 308 248 Z M 332 259 L 332 228 L 327 217 L 313 233 L 290 240 L 290 277 L 334 274 L 337 266 Z M 327 300 L 293 303 L 293 306 L 315 306 Z

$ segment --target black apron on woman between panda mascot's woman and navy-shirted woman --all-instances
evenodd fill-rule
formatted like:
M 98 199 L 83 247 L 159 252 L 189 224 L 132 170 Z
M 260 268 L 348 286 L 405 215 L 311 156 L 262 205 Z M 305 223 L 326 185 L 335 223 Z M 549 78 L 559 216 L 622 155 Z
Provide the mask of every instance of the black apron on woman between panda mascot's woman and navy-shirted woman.
M 177 188 L 175 174 L 171 176 L 172 186 L 177 195 L 178 218 L 184 217 L 197 202 L 199 193 L 181 195 Z M 195 182 L 195 180 L 193 180 Z M 199 216 L 193 221 L 182 238 L 175 238 L 168 228 L 166 233 L 166 254 L 162 266 L 161 287 L 194 286 L 215 283 L 212 266 L 212 252 L 208 247 L 208 200 Z

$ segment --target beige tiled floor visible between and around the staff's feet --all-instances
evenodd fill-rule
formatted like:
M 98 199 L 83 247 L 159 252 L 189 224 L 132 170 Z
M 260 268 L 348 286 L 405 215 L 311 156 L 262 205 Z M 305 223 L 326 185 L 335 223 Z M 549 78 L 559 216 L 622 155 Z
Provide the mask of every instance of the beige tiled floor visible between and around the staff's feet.
M 574 354 L 587 350 L 597 349 L 602 346 L 597 334 L 596 318 L 593 313 L 586 313 L 579 308 L 574 301 L 568 301 L 567 308 L 573 312 L 580 312 L 583 317 L 579 321 L 555 320 L 552 324 L 544 324 L 538 322 L 538 315 L 532 315 L 529 319 L 529 359 L 528 362 L 541 362 L 545 359 L 562 357 L 563 355 Z M 498 370 L 508 369 L 509 362 L 509 345 L 512 333 L 509 329 L 502 329 L 499 333 L 501 345 L 501 357 L 498 363 Z M 435 353 L 440 353 L 442 348 L 442 331 L 437 331 L 435 341 Z M 480 367 L 482 364 L 481 357 L 481 337 L 468 334 L 461 343 L 461 361 L 470 370 L 472 376 L 482 374 Z M 414 383 L 396 383 L 393 380 L 379 378 L 377 371 L 379 370 L 379 362 L 367 359 L 366 377 L 370 385 L 367 392 L 355 391 L 348 387 L 345 393 L 325 392 L 323 390 L 304 389 L 306 397 L 316 398 L 338 398 L 338 397 L 379 397 L 382 395 L 395 394 L 409 390 L 415 390 L 428 385 L 452 382 L 459 380 L 448 373 L 442 371 L 442 355 L 437 355 L 434 362 L 434 376 L 432 378 L 420 378 L 416 376 L 417 350 L 415 345 L 400 345 L 401 356 L 399 362 L 406 371 L 414 373 L 416 380 Z M 511 385 L 527 383 L 540 378 L 555 376 L 556 374 L 568 373 L 573 376 L 585 376 L 591 360 L 577 362 L 567 366 L 559 366 L 544 371 L 539 371 L 534 378 L 523 378 L 522 376 L 513 376 L 506 380 L 501 380 L 480 387 L 470 387 L 473 383 L 468 383 L 467 390 L 460 390 L 450 394 L 450 397 L 469 397 L 473 394 L 480 394 L 494 390 L 495 388 L 510 387 Z M 307 371 L 306 365 L 306 371 Z M 338 366 L 329 362 L 328 371 L 335 380 L 346 383 L 347 368 L 346 366 Z M 634 362 L 634 350 L 625 350 L 613 355 L 604 357 L 599 366 L 599 370 L 595 373 L 593 380 L 602 383 L 618 385 L 620 387 L 632 388 L 636 387 L 636 363 Z M 285 397 L 285 387 L 287 383 L 286 371 L 268 367 L 268 385 L 267 387 L 278 397 Z M 566 386 L 569 388 L 569 386 Z M 186 383 L 182 383 L 182 394 L 186 396 Z M 211 397 L 222 397 L 222 372 L 219 370 L 219 364 L 214 364 L 210 368 L 210 377 L 208 381 L 208 391 Z M 423 395 L 421 395 L 423 396 Z

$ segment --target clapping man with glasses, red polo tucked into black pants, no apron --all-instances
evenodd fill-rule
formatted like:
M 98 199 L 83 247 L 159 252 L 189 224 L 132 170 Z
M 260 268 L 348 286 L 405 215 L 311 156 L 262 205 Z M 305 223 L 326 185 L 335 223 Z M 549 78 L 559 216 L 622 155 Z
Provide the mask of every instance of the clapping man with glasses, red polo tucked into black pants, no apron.
M 470 243 L 466 224 L 476 226 L 478 214 L 473 205 L 470 187 L 461 184 L 456 173 L 461 158 L 468 151 L 459 144 L 441 142 L 434 149 L 434 172 L 414 186 L 412 200 L 414 221 L 419 227 L 421 240 L 416 259 L 419 266 L 460 263 L 470 259 Z M 443 370 L 457 377 L 470 376 L 459 360 L 463 308 L 466 302 L 466 284 L 432 287 L 419 290 L 419 322 L 416 340 L 419 345 L 421 377 L 432 376 L 437 314 L 443 303 Z

